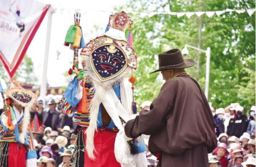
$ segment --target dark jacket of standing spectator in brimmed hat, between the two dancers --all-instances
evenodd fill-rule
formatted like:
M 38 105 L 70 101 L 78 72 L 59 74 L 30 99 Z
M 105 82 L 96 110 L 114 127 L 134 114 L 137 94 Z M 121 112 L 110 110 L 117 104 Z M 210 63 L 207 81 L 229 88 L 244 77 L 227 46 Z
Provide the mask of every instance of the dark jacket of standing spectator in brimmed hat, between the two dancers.
M 58 112 L 56 109 L 52 112 L 50 110 L 43 111 L 43 125 L 46 127 L 51 127 L 52 130 L 57 130 L 59 115 L 60 112 Z

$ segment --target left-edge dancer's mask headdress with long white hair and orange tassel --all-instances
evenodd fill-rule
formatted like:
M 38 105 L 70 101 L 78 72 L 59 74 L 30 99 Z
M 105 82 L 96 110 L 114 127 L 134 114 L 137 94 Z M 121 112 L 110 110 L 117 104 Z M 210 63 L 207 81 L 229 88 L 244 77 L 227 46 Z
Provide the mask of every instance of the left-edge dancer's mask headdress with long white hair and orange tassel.
M 27 132 L 27 127 L 30 123 L 30 110 L 34 105 L 37 95 L 31 91 L 28 91 L 20 85 L 20 82 L 16 79 L 11 79 L 9 82 L 9 89 L 5 92 L 6 96 L 12 101 L 16 102 L 18 105 L 24 107 L 24 117 L 23 117 L 23 127 L 22 132 L 19 135 L 21 143 L 25 142 L 25 135 Z M 14 129 L 13 120 L 14 120 L 14 111 L 10 105 L 10 100 L 7 100 L 7 125 L 6 127 L 10 130 Z

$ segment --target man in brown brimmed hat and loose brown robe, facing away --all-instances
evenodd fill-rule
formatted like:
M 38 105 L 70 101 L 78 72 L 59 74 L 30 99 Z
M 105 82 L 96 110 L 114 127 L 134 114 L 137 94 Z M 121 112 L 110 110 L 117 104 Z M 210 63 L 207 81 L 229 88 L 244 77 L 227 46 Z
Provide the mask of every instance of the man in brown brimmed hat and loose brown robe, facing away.
M 158 167 L 208 167 L 207 153 L 217 146 L 215 123 L 209 104 L 196 80 L 184 68 L 196 63 L 183 59 L 178 49 L 158 55 L 166 81 L 150 110 L 127 122 L 130 138 L 150 135 L 149 150 Z M 153 73 L 154 73 L 153 72 Z

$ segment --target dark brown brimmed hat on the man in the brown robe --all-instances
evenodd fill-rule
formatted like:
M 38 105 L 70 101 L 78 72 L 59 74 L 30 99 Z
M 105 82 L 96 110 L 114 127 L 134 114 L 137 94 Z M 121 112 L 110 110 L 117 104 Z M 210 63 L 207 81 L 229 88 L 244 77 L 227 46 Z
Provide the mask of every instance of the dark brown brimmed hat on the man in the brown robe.
M 196 64 L 192 59 L 183 59 L 179 49 L 171 49 L 170 51 L 158 54 L 158 61 L 159 69 L 150 74 L 170 69 L 188 68 Z

